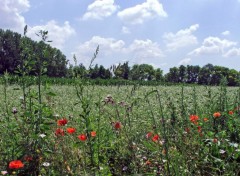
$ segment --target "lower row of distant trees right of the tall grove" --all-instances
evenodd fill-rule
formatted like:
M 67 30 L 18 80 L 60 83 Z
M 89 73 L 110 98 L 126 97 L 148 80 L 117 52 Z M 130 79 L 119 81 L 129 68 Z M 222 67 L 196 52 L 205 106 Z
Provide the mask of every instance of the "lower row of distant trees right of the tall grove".
M 81 78 L 101 79 L 125 79 L 138 81 L 160 81 L 170 83 L 190 83 L 200 85 L 219 85 L 224 83 L 229 86 L 240 85 L 240 72 L 222 66 L 207 64 L 203 67 L 193 65 L 180 65 L 169 69 L 163 74 L 160 68 L 154 69 L 152 65 L 135 64 L 132 67 L 128 62 L 111 66 L 105 69 L 102 65 L 95 65 L 87 70 L 84 65 L 72 66 L 73 74 Z M 73 76 L 69 75 L 70 77 Z

